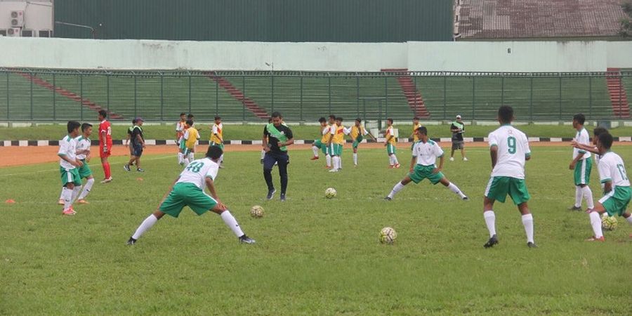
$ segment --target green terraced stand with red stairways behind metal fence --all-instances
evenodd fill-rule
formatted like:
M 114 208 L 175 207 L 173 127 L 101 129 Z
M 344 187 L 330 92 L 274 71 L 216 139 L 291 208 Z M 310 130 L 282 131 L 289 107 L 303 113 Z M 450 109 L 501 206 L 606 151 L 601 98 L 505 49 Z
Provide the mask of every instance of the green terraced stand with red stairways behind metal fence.
M 610 81 L 609 81 L 610 79 Z M 614 80 L 614 81 L 613 81 Z M 610 88 L 621 84 L 618 90 Z M 494 120 L 512 105 L 521 121 L 629 119 L 613 110 L 627 103 L 632 72 L 189 72 L 0 68 L 0 121 L 143 117 L 173 121 L 180 112 L 211 121 L 287 121 L 328 114 L 364 119 Z M 419 93 L 416 96 L 415 93 Z M 614 100 L 614 101 L 613 101 Z

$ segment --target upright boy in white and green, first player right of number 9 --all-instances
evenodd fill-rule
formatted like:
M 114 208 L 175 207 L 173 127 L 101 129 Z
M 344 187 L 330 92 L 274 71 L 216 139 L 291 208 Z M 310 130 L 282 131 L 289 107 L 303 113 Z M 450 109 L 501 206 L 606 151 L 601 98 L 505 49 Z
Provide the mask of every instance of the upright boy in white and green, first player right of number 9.
M 574 140 L 581 145 L 590 145 L 591 140 L 588 131 L 584 129 L 584 114 L 575 114 L 573 117 L 573 128 L 577 131 Z M 586 199 L 586 207 L 593 209 L 593 192 L 588 182 L 591 179 L 591 170 L 593 169 L 593 161 L 591 153 L 586 150 L 573 148 L 573 159 L 568 168 L 574 170 L 575 183 L 575 203 L 569 208 L 570 211 L 581 211 L 581 199 Z

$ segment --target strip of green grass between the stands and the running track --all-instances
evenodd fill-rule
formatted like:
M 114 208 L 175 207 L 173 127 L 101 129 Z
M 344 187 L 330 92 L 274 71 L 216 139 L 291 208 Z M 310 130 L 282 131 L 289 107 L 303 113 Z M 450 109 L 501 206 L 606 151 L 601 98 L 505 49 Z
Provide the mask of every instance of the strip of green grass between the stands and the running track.
M 93 121 L 93 124 L 96 124 Z M 346 122 L 347 126 L 350 122 Z M 203 140 L 208 140 L 211 133 L 210 127 L 206 124 L 197 126 L 200 129 Z M 169 125 L 145 125 L 143 132 L 147 139 L 173 139 L 175 137 L 175 123 Z M 295 139 L 312 140 L 317 138 L 318 126 L 290 125 Z M 409 136 L 412 125 L 396 124 L 400 129 L 400 136 Z M 489 132 L 494 131 L 498 126 L 466 126 L 466 137 L 486 137 Z M 586 126 L 589 132 L 594 126 Z M 65 125 L 40 125 L 33 127 L 0 127 L 0 140 L 55 140 L 61 138 L 65 133 Z M 520 126 L 530 137 L 574 137 L 575 132 L 572 126 L 560 125 L 525 125 Z M 450 137 L 448 125 L 428 125 L 428 131 L 433 138 Z M 617 127 L 610 129 L 613 136 L 632 136 L 632 126 Z M 263 126 L 258 125 L 226 125 L 224 129 L 225 140 L 258 140 L 263 134 Z M 112 137 L 114 139 L 124 139 L 127 135 L 127 126 L 112 126 Z M 97 138 L 96 133 L 94 138 Z

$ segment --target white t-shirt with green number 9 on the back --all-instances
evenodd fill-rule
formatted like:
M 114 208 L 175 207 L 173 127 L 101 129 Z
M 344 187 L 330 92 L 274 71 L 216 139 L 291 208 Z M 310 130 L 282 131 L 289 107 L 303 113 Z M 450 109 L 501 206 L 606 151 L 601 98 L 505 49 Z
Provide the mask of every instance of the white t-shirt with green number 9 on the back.
M 489 147 L 498 147 L 498 160 L 492 170 L 492 177 L 524 179 L 526 158 L 531 155 L 529 139 L 525 133 L 511 125 L 503 125 L 487 137 Z

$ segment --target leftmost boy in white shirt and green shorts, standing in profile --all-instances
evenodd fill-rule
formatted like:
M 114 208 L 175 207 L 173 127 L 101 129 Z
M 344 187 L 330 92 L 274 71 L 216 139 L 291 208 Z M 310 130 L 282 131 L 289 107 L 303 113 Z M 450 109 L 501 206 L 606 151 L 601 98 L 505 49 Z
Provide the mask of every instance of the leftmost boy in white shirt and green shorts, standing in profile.
M 77 159 L 77 136 L 79 136 L 78 121 L 68 121 L 66 129 L 68 135 L 59 142 L 59 172 L 62 180 L 62 197 L 64 199 L 64 209 L 62 214 L 74 215 L 77 212 L 72 209 L 74 198 L 81 192 L 81 177 L 79 167 L 83 166 L 81 160 Z

